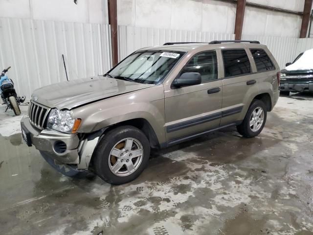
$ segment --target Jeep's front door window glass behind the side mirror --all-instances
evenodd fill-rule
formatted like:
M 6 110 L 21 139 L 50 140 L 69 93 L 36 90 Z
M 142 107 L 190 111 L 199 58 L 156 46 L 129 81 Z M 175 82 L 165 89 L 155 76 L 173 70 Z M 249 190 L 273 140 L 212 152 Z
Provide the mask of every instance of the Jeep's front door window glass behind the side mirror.
M 215 51 L 206 51 L 195 55 L 182 70 L 184 72 L 199 72 L 201 83 L 217 79 L 217 58 Z

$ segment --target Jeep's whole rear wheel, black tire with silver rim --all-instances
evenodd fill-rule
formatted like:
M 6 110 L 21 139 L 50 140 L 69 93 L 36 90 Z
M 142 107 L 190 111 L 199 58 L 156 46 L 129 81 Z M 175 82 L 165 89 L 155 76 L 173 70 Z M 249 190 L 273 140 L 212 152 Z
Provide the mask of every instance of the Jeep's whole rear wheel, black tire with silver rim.
M 263 101 L 252 101 L 244 121 L 237 126 L 239 134 L 246 138 L 252 138 L 261 133 L 267 118 L 266 106 Z

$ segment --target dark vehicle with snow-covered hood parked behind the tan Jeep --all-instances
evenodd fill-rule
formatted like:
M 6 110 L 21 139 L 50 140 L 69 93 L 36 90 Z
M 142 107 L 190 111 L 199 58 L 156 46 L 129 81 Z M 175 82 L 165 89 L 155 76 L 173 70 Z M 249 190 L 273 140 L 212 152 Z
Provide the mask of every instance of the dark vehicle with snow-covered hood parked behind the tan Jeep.
M 292 63 L 281 71 L 280 94 L 290 92 L 313 93 L 313 49 L 300 53 Z

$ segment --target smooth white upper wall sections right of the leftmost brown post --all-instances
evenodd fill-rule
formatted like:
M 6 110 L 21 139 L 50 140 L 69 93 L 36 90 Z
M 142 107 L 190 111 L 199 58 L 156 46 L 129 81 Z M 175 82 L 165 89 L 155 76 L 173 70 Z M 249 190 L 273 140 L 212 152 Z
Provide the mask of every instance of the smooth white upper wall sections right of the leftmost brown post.
M 304 0 L 248 0 L 303 11 Z M 236 4 L 220 0 L 117 0 L 119 25 L 234 33 Z M 243 34 L 298 37 L 301 16 L 246 6 Z

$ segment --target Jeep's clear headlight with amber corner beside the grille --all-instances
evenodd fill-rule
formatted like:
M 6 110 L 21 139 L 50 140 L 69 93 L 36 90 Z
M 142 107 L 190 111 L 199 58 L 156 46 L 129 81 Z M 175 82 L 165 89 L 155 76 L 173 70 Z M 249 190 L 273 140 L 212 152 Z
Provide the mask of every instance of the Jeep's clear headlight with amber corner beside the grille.
M 76 133 L 80 119 L 73 119 L 69 110 L 52 109 L 47 127 L 65 133 Z

